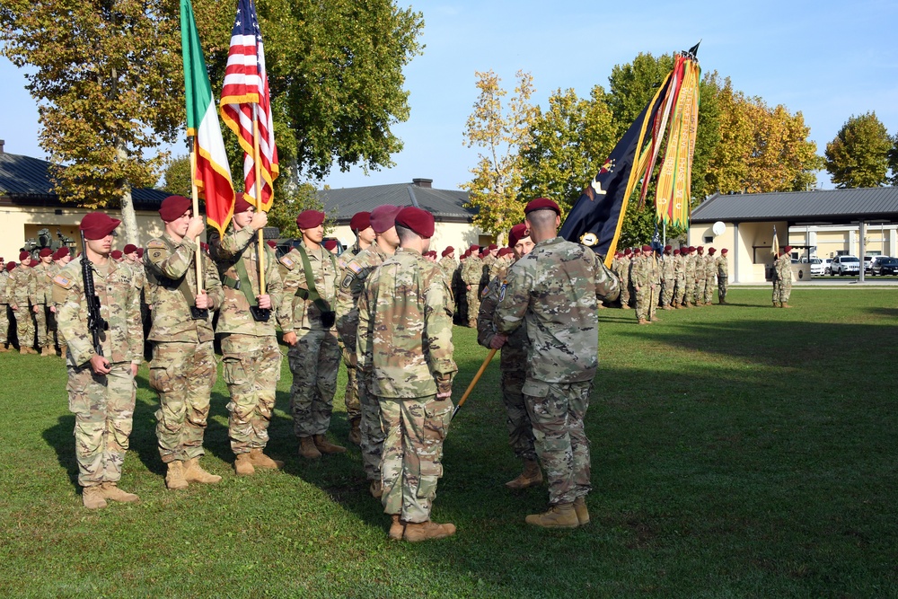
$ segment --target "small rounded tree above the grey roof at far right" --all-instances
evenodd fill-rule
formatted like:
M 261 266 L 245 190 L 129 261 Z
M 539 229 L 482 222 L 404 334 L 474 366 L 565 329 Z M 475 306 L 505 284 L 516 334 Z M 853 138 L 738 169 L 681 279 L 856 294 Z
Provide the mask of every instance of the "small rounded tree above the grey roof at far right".
M 893 148 L 894 141 L 876 112 L 852 116 L 826 145 L 826 171 L 838 188 L 885 185 Z

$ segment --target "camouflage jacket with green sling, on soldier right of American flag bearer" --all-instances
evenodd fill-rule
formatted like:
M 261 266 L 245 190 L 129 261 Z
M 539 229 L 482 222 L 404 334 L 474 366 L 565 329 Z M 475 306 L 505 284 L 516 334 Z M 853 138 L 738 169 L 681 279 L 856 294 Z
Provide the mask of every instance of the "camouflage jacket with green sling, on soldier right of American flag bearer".
M 315 288 L 329 309 L 333 310 L 337 296 L 337 259 L 323 245 L 318 250 L 306 248 L 305 251 L 312 266 Z M 305 279 L 302 255 L 294 248 L 281 257 L 280 263 L 286 268 L 284 301 L 277 311 L 277 323 L 281 330 L 324 330 L 321 309 L 303 297 L 304 291 L 309 290 L 309 284 Z

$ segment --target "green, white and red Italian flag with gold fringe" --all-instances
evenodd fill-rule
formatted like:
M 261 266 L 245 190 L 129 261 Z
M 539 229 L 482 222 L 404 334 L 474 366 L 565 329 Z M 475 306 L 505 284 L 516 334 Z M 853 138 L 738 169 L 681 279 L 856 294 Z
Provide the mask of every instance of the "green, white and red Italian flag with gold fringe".
M 224 235 L 233 216 L 231 168 L 190 0 L 180 0 L 180 43 L 184 57 L 187 136 L 193 137 L 193 183 L 199 197 L 206 200 L 208 224 Z

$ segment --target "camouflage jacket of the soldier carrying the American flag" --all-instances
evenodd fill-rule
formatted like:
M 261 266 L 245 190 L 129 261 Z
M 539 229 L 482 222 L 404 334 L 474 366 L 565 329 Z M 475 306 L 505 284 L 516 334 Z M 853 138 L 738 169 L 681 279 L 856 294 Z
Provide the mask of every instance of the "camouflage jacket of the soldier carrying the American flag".
M 246 277 L 250 281 L 251 295 L 255 297 L 259 291 L 259 254 L 256 232 L 251 227 L 234 231 L 228 229 L 224 237 L 213 236 L 209 240 L 209 252 L 218 267 L 218 275 L 222 281 L 222 292 L 225 300 L 218 313 L 216 333 L 240 333 L 255 337 L 274 337 L 277 308 L 284 301 L 284 284 L 277 269 L 275 252 L 268 245 L 265 248 L 265 292 L 271 297 L 272 317 L 267 322 L 258 322 L 252 318 L 250 302 L 240 285 L 237 273 L 237 262 L 242 261 L 246 269 Z

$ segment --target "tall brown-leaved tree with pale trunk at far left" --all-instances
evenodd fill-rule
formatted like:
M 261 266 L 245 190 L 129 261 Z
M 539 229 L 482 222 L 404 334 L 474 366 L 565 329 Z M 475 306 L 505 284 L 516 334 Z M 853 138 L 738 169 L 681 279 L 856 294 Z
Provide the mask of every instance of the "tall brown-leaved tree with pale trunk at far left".
M 174 11 L 174 13 L 173 13 Z M 131 187 L 154 184 L 174 141 L 183 101 L 177 3 L 171 0 L 4 0 L 3 54 L 38 101 L 40 145 L 56 166 L 60 198 L 119 206 L 137 242 Z

